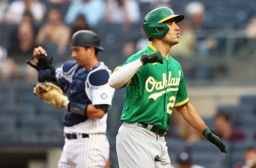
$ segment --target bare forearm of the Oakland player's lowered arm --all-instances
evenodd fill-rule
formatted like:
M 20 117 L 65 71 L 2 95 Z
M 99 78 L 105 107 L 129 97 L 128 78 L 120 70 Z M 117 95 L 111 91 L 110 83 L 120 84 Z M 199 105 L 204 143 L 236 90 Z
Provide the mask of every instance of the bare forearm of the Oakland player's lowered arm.
M 176 110 L 182 115 L 183 119 L 198 132 L 202 133 L 203 130 L 207 128 L 207 125 L 192 104 L 188 103 L 183 107 L 176 108 Z

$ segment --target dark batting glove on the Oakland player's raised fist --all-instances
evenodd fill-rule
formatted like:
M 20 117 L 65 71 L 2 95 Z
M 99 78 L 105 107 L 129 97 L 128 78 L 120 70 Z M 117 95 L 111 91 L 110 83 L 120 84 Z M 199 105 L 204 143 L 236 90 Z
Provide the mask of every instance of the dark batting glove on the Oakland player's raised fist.
M 163 64 L 163 56 L 159 51 L 149 53 L 149 54 L 147 54 L 147 52 L 143 52 L 141 54 L 141 58 L 142 58 L 143 65 L 146 65 L 147 63 L 155 63 L 155 62 L 159 62 Z

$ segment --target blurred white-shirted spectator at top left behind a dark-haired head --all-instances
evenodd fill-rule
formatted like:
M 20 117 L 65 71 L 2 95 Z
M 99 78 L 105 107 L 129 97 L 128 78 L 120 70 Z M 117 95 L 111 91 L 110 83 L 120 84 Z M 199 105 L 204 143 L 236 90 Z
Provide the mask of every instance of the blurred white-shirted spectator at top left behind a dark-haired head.
M 44 19 L 46 7 L 37 0 L 18 0 L 13 1 L 8 6 L 6 14 L 6 22 L 9 24 L 18 24 L 22 20 L 22 15 L 26 11 L 29 11 L 35 22 L 41 22 Z

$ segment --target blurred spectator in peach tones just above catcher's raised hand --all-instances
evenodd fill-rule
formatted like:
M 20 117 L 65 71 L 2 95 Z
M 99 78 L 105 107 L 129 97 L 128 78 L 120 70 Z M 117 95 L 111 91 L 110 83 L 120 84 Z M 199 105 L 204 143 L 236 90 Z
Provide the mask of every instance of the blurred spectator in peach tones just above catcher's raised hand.
M 47 23 L 39 29 L 36 44 L 42 45 L 53 55 L 62 55 L 66 52 L 69 38 L 70 29 L 63 24 L 59 9 L 51 9 L 47 14 Z

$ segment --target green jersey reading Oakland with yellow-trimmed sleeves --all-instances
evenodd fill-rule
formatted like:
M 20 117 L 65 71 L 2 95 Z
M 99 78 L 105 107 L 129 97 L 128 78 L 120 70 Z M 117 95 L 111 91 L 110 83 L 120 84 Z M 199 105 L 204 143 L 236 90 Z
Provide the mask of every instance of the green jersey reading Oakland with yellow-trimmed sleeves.
M 142 52 L 154 51 L 153 45 L 143 48 L 123 65 L 139 59 Z M 189 99 L 179 62 L 171 56 L 168 59 L 163 57 L 163 62 L 142 66 L 127 83 L 122 121 L 152 124 L 167 131 L 170 129 L 173 108 L 187 104 Z M 117 66 L 115 71 L 123 65 Z

